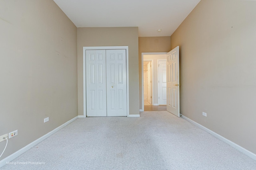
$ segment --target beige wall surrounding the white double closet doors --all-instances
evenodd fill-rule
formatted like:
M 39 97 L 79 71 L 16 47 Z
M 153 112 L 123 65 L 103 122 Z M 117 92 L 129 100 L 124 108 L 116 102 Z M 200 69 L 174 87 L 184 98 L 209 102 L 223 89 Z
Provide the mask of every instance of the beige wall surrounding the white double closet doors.
M 129 47 L 129 104 L 130 114 L 139 114 L 138 27 L 83 27 L 77 28 L 78 54 L 78 115 L 83 107 L 83 47 Z

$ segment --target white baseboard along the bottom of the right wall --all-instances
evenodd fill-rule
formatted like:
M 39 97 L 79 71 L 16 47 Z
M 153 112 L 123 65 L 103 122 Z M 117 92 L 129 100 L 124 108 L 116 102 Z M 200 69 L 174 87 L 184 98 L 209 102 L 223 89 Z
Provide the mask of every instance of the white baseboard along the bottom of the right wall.
M 188 117 L 182 115 L 182 118 L 186 119 L 187 121 L 193 123 L 194 125 L 200 127 L 201 129 L 203 129 L 204 131 L 210 133 L 211 135 L 213 135 L 214 137 L 220 139 L 221 141 L 225 142 L 226 144 L 230 145 L 231 147 L 235 148 L 236 150 L 239 150 L 240 152 L 246 154 L 247 156 L 249 156 L 250 158 L 256 160 L 256 154 L 250 152 L 247 149 L 244 149 L 243 147 L 241 147 L 240 145 L 237 145 L 236 143 L 224 138 L 223 136 L 219 135 L 218 133 L 215 133 L 214 131 L 211 131 L 210 129 L 204 127 L 203 125 L 200 125 L 199 123 L 196 123 L 195 121 L 192 121 L 191 119 L 189 119 Z

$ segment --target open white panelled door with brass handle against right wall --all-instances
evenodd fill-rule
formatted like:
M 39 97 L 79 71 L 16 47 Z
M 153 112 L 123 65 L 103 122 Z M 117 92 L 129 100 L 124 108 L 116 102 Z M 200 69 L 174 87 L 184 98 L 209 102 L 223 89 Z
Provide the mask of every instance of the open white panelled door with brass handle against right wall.
M 167 105 L 170 113 L 180 117 L 179 46 L 167 53 Z

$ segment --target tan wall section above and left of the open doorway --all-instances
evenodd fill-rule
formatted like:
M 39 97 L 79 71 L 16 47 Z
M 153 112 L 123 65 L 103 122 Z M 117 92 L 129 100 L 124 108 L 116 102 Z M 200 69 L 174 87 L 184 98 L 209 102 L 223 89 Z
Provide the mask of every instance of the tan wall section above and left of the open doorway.
M 140 109 L 142 109 L 141 53 L 160 53 L 169 51 L 171 51 L 171 37 L 139 37 Z

